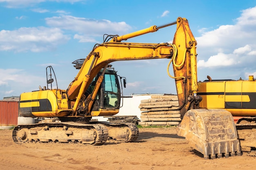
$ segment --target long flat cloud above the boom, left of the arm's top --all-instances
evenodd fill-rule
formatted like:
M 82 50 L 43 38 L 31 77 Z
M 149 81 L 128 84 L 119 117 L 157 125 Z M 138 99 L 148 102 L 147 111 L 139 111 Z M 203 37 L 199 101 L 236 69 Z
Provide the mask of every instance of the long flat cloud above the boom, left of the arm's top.
M 124 34 L 131 26 L 126 22 L 111 22 L 109 20 L 93 20 L 87 18 L 78 18 L 71 15 L 62 15 L 58 17 L 46 18 L 49 26 L 65 30 L 72 30 L 84 35 L 102 36 L 103 34 Z

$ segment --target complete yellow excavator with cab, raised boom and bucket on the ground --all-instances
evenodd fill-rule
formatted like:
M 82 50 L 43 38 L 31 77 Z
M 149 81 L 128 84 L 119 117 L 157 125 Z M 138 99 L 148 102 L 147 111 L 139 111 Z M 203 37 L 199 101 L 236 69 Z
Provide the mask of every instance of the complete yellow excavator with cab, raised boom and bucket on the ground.
M 177 24 L 177 29 L 172 44 L 122 42 L 174 24 Z M 186 137 L 189 144 L 201 152 L 205 159 L 241 155 L 231 113 L 224 107 L 216 109 L 214 106 L 213 109 L 208 109 L 204 102 L 204 92 L 200 92 L 202 97 L 198 95 L 197 42 L 186 18 L 179 17 L 175 22 L 151 26 L 122 36 L 107 35 L 103 39 L 103 43 L 95 44 L 84 60 L 74 62 L 80 71 L 67 90 L 58 89 L 57 82 L 57 88 L 52 88 L 55 74 L 49 66 L 46 69 L 47 87 L 39 87 L 38 91 L 20 95 L 20 116 L 53 119 L 16 126 L 13 129 L 13 141 L 58 141 L 95 145 L 106 141 L 135 141 L 139 135 L 135 124 L 91 120 L 94 116 L 110 116 L 119 112 L 121 79 L 124 80 L 124 86 L 126 79 L 110 69 L 109 64 L 126 60 L 169 59 L 167 70 L 172 62 L 174 76 L 168 74 L 175 79 L 182 118 L 177 134 Z M 199 84 L 202 87 L 204 83 Z M 208 93 L 208 88 L 205 90 Z M 211 104 L 216 102 L 213 100 Z

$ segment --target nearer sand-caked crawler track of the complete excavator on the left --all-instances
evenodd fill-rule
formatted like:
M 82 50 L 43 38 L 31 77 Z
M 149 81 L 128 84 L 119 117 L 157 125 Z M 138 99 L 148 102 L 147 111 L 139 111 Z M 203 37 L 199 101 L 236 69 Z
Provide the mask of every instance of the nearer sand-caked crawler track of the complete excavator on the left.
M 38 123 L 16 126 L 12 138 L 18 144 L 29 141 L 54 141 L 101 145 L 108 139 L 108 130 L 101 124 Z

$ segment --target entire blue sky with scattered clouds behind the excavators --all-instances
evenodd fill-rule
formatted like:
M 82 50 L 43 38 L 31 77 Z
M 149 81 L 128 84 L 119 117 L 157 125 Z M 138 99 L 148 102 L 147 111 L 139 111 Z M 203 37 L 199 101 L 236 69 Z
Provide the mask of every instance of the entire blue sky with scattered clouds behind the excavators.
M 238 1 L 240 2 L 240 1 Z M 256 77 L 256 0 L 0 0 L 0 99 L 46 85 L 53 66 L 66 89 L 103 34 L 123 35 L 187 18 L 198 42 L 198 80 Z M 176 26 L 127 42 L 172 42 Z M 113 62 L 124 95 L 173 93 L 168 59 Z M 172 72 L 172 71 L 171 71 Z

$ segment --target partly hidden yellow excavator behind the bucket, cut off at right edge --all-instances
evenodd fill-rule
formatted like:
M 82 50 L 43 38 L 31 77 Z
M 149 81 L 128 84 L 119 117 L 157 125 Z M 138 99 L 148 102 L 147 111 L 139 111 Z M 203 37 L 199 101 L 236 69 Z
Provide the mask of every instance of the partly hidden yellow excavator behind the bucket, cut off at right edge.
M 200 108 L 225 109 L 237 119 L 236 130 L 241 151 L 255 156 L 256 150 L 256 81 L 211 79 L 198 82 L 198 94 L 202 96 Z

